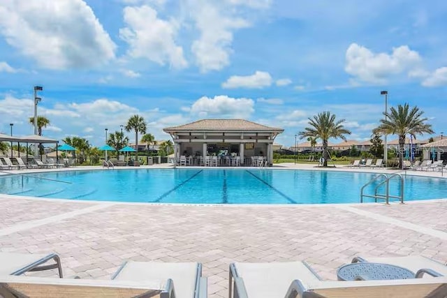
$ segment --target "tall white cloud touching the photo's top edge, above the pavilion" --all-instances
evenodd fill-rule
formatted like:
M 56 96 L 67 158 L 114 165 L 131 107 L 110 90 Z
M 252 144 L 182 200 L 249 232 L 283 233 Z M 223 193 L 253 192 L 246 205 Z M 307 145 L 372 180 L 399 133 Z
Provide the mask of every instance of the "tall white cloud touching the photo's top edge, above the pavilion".
M 221 5 L 219 1 L 191 1 L 189 8 L 200 38 L 194 40 L 191 51 L 196 57 L 200 71 L 221 70 L 230 64 L 230 54 L 233 52 L 233 31 L 249 27 L 249 22 L 235 17 L 233 9 Z

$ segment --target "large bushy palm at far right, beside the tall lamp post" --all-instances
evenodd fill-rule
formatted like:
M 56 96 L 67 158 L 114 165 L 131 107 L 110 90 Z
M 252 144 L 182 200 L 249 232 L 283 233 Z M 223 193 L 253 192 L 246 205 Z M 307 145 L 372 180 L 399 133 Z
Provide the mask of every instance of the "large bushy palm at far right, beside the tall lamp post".
M 374 128 L 373 133 L 386 133 L 389 135 L 397 135 L 399 137 L 399 164 L 403 169 L 403 150 L 405 146 L 406 135 L 412 135 L 416 139 L 416 135 L 424 133 L 434 133 L 431 124 L 426 124 L 427 118 L 422 118 L 423 111 L 417 106 L 411 107 L 408 103 L 397 105 L 397 108 L 391 107 L 390 112 L 383 112 L 386 119 L 381 119 L 379 127 Z

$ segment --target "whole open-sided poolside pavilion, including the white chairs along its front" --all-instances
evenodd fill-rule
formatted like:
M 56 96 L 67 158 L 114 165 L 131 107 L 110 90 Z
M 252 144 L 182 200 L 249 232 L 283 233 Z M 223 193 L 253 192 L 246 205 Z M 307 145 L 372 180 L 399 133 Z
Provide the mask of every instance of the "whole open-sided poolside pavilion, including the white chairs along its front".
M 274 139 L 284 129 L 243 119 L 203 119 L 163 131 L 173 138 L 175 165 L 271 166 Z

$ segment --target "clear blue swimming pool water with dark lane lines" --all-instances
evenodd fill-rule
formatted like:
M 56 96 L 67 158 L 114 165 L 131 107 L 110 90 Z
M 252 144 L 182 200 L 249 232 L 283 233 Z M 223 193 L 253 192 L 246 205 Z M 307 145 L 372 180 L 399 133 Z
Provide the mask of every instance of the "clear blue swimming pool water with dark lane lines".
M 360 201 L 375 173 L 267 169 L 139 169 L 0 177 L 0 193 L 71 200 L 192 204 L 328 204 Z M 376 184 L 365 188 L 373 193 Z M 400 193 L 397 180 L 390 195 Z M 384 191 L 382 190 L 381 193 Z M 405 200 L 447 198 L 447 180 L 405 177 Z M 367 200 L 372 202 L 372 199 Z

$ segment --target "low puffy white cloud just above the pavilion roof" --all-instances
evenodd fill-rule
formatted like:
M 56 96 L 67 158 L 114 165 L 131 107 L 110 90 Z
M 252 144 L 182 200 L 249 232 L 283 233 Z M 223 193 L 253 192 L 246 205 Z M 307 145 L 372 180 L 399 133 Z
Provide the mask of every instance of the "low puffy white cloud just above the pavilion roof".
M 254 112 L 254 100 L 226 95 L 214 98 L 203 96 L 191 105 L 190 112 L 199 117 L 249 118 Z

